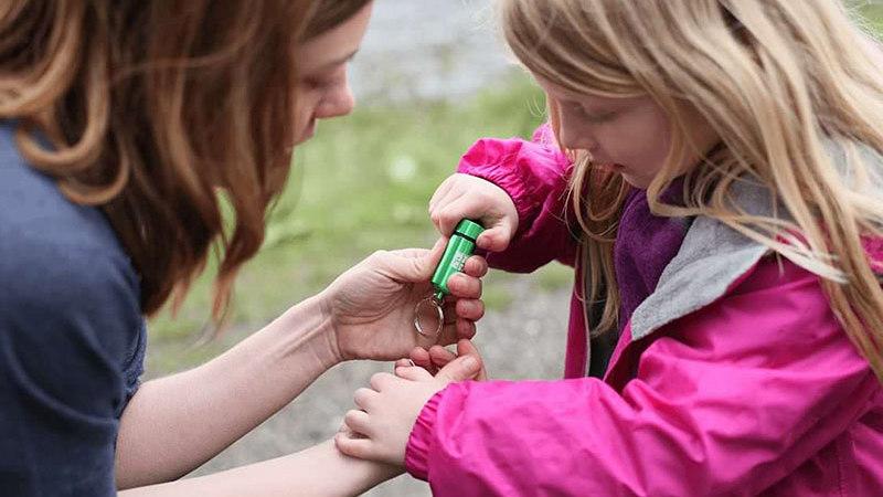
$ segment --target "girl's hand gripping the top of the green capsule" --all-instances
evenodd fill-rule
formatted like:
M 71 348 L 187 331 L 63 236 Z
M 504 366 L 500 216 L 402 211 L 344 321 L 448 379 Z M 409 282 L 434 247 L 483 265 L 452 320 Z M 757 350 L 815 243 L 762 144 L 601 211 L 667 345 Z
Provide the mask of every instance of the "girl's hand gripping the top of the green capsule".
M 443 236 L 450 236 L 467 218 L 481 223 L 485 232 L 476 245 L 501 252 L 518 230 L 518 211 L 509 193 L 481 178 L 457 173 L 446 179 L 429 200 L 429 218 Z

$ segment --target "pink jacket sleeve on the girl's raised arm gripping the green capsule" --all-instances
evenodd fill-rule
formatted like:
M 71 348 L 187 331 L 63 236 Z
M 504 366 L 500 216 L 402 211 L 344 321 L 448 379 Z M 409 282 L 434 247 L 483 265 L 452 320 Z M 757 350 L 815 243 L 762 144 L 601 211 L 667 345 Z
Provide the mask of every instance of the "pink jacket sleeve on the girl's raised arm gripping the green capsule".
M 457 172 L 499 186 L 518 211 L 519 228 L 509 247 L 487 254 L 491 267 L 530 273 L 554 260 L 574 265 L 576 240 L 565 221 L 572 167 L 547 125 L 531 141 L 482 138 L 462 156 Z

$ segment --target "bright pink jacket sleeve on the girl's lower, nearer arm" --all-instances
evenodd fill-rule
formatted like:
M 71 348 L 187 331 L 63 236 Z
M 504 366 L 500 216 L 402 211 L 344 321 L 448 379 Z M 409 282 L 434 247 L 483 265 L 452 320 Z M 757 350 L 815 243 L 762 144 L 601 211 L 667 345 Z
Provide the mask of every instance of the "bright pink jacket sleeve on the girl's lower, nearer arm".
M 592 378 L 449 385 L 414 425 L 408 472 L 436 496 L 768 488 L 870 409 L 880 387 L 816 276 L 790 263 L 780 275 L 775 261 L 753 271 L 657 331 L 621 392 Z

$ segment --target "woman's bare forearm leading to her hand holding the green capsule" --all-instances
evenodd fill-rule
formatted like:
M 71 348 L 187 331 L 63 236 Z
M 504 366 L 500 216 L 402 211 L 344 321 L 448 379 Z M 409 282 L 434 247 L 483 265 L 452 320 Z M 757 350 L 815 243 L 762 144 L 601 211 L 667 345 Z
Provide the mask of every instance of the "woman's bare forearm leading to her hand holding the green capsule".
M 216 359 L 148 381 L 123 413 L 119 488 L 178 478 L 288 404 L 339 361 L 320 297 L 289 309 Z

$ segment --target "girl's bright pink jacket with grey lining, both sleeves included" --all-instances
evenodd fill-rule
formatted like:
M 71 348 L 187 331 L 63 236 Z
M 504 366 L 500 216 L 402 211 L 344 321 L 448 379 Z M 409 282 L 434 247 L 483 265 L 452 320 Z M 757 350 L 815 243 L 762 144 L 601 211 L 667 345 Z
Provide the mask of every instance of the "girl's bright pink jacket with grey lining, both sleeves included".
M 568 168 L 543 133 L 466 154 L 460 171 L 504 188 L 521 216 L 493 266 L 574 264 Z M 740 193 L 747 205 L 764 195 Z M 880 268 L 883 243 L 868 248 Z M 412 431 L 408 472 L 457 497 L 883 495 L 883 389 L 819 278 L 726 226 L 693 222 L 604 381 L 583 378 L 586 343 L 574 306 L 564 380 L 437 393 Z

